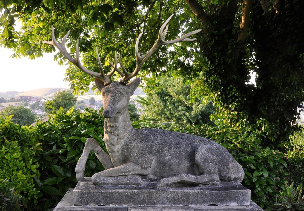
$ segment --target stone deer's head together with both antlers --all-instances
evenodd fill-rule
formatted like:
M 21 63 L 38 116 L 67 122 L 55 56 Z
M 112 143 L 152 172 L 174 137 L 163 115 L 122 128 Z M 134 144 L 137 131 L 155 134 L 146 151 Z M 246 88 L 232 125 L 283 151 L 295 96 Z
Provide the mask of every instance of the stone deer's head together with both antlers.
M 172 18 L 173 15 L 174 14 L 172 14 L 161 26 L 161 28 L 159 29 L 158 38 L 157 38 L 156 42 L 154 43 L 152 48 L 143 56 L 141 56 L 138 51 L 139 40 L 140 40 L 140 37 L 143 35 L 143 32 L 140 33 L 140 35 L 138 36 L 138 38 L 136 40 L 136 44 L 135 44 L 136 67 L 135 67 L 134 71 L 131 73 L 129 73 L 126 70 L 126 67 L 123 66 L 120 55 L 118 57 L 118 61 L 119 61 L 120 68 L 122 69 L 122 71 L 120 71 L 120 69 L 117 67 L 117 54 L 115 51 L 114 64 L 109 62 L 109 64 L 112 66 L 112 70 L 108 74 L 105 74 L 105 72 L 102 69 L 102 65 L 101 65 L 99 55 L 98 55 L 97 48 L 96 48 L 96 54 L 97 54 L 97 61 L 98 61 L 100 73 L 86 69 L 81 64 L 80 59 L 79 59 L 78 40 L 76 43 L 76 59 L 71 57 L 71 55 L 67 52 L 67 49 L 65 47 L 65 41 L 71 30 L 69 30 L 67 32 L 67 34 L 64 36 L 64 38 L 62 39 L 62 41 L 60 43 L 58 43 L 55 38 L 54 27 L 52 27 L 52 41 L 43 41 L 43 43 L 50 44 L 50 45 L 57 47 L 57 49 L 62 53 L 62 55 L 65 58 L 67 58 L 68 61 L 73 63 L 81 71 L 84 71 L 85 73 L 95 77 L 96 87 L 102 93 L 102 101 L 103 101 L 103 109 L 104 109 L 103 116 L 106 118 L 112 118 L 117 112 L 122 112 L 123 110 L 128 109 L 128 103 L 130 101 L 130 96 L 133 95 L 135 89 L 140 84 L 140 79 L 136 78 L 135 80 L 131 81 L 130 83 L 128 83 L 128 81 L 139 73 L 140 68 L 143 66 L 143 63 L 145 61 L 147 61 L 148 58 L 150 58 L 160 46 L 170 45 L 170 44 L 178 43 L 178 42 L 196 40 L 196 38 L 188 39 L 188 37 L 191 36 L 192 34 L 196 34 L 196 33 L 200 32 L 202 30 L 202 29 L 198 29 L 198 30 L 189 32 L 174 40 L 170 40 L 170 41 L 165 40 L 165 36 L 166 36 L 168 27 L 169 27 L 168 22 L 170 21 L 170 19 Z M 113 75 L 113 73 L 115 71 L 117 71 L 120 74 L 120 76 L 121 76 L 120 81 L 111 80 L 111 76 Z

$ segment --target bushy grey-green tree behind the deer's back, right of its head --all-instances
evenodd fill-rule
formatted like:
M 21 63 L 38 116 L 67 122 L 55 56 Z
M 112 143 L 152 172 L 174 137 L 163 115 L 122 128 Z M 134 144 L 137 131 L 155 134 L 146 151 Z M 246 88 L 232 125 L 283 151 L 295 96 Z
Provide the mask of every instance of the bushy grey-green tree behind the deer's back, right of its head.
M 191 86 L 184 84 L 182 78 L 163 75 L 159 79 L 158 87 L 153 93 L 148 93 L 147 98 L 138 100 L 143 106 L 141 119 L 152 123 L 169 124 L 173 128 L 211 122 L 210 115 L 215 112 L 212 102 L 189 102 L 187 97 Z

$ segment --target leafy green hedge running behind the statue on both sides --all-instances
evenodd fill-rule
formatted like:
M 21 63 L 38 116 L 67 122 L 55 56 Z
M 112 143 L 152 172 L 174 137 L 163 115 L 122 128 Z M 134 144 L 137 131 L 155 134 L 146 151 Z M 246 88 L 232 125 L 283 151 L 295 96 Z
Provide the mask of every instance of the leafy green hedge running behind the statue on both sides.
M 0 179 L 10 179 L 28 208 L 53 208 L 67 189 L 77 183 L 74 168 L 86 139 L 95 138 L 105 149 L 101 113 L 102 110 L 86 109 L 80 113 L 73 108 L 67 112 L 59 109 L 46 123 L 37 123 L 35 127 L 15 125 L 9 118 L 1 119 Z M 292 168 L 286 168 L 286 156 L 274 146 L 264 147 L 261 143 L 269 130 L 265 120 L 232 125 L 218 119 L 215 124 L 178 127 L 175 131 L 208 137 L 228 149 L 245 170 L 243 185 L 251 190 L 252 199 L 261 207 L 269 208 L 275 202 L 278 192 L 284 188 L 288 170 L 294 171 L 294 177 L 289 175 L 292 180 L 300 178 L 298 182 L 303 182 L 303 151 L 289 152 L 287 161 Z M 133 126 L 156 125 L 133 122 Z M 92 152 L 85 176 L 103 169 Z

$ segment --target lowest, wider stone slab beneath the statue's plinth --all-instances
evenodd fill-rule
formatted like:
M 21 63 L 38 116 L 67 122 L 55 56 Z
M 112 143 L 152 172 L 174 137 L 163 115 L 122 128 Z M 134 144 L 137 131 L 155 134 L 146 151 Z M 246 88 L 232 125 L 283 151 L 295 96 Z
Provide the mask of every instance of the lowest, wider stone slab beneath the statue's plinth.
M 73 188 L 53 211 L 264 211 L 253 201 L 248 206 L 74 206 Z

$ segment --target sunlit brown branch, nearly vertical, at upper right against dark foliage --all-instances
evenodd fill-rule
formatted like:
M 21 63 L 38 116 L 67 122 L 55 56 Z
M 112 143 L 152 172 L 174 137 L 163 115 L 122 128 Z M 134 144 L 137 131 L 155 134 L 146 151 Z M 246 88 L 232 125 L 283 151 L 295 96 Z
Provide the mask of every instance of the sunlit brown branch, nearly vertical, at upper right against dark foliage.
M 242 20 L 240 22 L 240 33 L 237 38 L 239 41 L 244 41 L 247 38 L 251 4 L 252 4 L 252 0 L 243 0 Z

